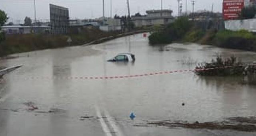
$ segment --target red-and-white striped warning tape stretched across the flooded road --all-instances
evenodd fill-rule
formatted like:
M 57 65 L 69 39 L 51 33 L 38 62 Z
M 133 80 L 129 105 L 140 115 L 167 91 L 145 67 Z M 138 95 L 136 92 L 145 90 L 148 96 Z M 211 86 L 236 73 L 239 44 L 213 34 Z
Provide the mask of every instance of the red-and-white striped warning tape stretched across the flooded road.
M 206 68 L 206 69 L 188 69 L 188 70 L 176 70 L 176 71 L 160 71 L 160 72 L 152 72 L 152 73 L 145 73 L 139 75 L 120 75 L 120 76 L 77 76 L 77 77 L 43 77 L 43 76 L 33 76 L 33 77 L 25 77 L 22 79 L 29 80 L 29 79 L 62 79 L 62 80 L 86 80 L 86 79 L 94 79 L 94 80 L 103 80 L 103 79 L 130 79 L 130 78 L 138 78 L 138 77 L 147 77 L 147 76 L 154 76 L 154 75 L 166 75 L 166 74 L 174 74 L 174 73 L 189 73 L 189 72 L 198 72 L 198 71 L 210 71 L 214 69 L 226 69 L 230 67 L 244 67 L 248 65 L 233 65 L 233 66 L 223 66 L 223 67 L 215 67 L 215 68 Z M 256 66 L 250 65 L 250 66 Z M 15 78 L 16 79 L 16 78 Z M 17 78 L 20 79 L 20 78 Z

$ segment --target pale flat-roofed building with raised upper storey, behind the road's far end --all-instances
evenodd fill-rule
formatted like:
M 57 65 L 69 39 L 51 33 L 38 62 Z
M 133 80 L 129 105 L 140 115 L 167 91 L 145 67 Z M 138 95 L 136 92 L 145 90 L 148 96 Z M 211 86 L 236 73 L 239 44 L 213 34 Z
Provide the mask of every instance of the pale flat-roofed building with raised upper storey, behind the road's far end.
M 174 22 L 172 10 L 148 10 L 146 16 L 132 16 L 135 27 L 166 25 Z

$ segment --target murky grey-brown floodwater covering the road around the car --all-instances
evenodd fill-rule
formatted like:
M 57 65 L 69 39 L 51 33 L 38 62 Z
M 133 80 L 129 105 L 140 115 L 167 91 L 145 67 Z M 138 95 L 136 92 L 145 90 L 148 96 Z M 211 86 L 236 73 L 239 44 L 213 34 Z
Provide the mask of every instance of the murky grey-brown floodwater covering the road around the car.
M 129 50 L 136 55 L 135 63 L 106 62 Z M 142 34 L 99 45 L 16 54 L 18 58 L 0 63 L 24 65 L 6 75 L 0 85 L 0 136 L 256 135 L 134 126 L 147 120 L 206 122 L 254 116 L 256 86 L 241 84 L 241 77 L 183 72 L 126 79 L 75 78 L 194 69 L 216 55 L 235 55 L 248 63 L 256 60 L 253 52 L 210 45 L 174 43 L 159 51 Z M 28 110 L 24 102 L 32 102 L 38 110 Z M 135 120 L 130 120 L 131 112 Z

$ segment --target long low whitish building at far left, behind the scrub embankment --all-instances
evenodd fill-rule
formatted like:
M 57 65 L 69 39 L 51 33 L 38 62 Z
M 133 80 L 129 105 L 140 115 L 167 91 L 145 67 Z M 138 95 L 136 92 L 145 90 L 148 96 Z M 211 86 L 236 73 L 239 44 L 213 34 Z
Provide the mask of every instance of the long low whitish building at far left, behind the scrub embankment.
M 50 26 L 2 26 L 1 28 L 6 34 L 42 34 L 51 30 Z

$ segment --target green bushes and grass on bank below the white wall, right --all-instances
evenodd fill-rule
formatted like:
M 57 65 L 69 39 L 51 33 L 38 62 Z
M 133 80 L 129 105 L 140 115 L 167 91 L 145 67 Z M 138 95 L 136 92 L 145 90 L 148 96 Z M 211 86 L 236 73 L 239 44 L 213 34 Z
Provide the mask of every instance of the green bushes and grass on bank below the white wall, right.
M 172 42 L 197 42 L 224 48 L 256 51 L 256 35 L 246 30 L 237 32 L 230 30 L 202 30 L 186 17 L 178 18 L 164 29 L 155 30 L 149 36 L 149 42 L 168 44 Z

